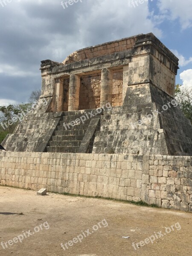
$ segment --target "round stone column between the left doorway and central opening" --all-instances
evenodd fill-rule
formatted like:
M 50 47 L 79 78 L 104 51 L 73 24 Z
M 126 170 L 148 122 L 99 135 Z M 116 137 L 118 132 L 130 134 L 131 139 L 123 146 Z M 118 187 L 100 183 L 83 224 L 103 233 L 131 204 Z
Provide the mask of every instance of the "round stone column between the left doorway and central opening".
M 70 75 L 68 111 L 75 111 L 79 109 L 79 89 L 80 89 L 80 76 Z

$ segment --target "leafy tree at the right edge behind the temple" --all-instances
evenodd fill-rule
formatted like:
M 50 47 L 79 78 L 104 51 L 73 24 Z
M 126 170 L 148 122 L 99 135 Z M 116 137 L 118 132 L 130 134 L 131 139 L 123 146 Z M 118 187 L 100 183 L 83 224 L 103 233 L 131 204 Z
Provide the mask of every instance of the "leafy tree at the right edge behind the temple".
M 192 88 L 177 84 L 175 86 L 175 98 L 184 116 L 192 123 Z

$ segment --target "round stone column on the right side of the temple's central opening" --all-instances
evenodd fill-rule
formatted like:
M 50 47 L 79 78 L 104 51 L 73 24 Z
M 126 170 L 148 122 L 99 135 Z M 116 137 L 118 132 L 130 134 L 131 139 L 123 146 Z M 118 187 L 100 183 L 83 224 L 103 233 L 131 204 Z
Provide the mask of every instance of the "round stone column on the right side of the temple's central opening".
M 107 103 L 110 103 L 112 105 L 112 85 L 112 70 L 108 68 L 102 69 L 100 107 L 105 106 Z

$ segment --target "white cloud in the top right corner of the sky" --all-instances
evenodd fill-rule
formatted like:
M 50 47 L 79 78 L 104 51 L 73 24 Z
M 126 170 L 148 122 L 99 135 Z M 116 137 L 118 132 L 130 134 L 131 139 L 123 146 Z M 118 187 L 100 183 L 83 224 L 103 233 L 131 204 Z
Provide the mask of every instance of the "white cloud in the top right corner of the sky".
M 182 29 L 192 26 L 191 0 L 159 0 L 158 6 L 164 17 L 172 21 L 179 19 Z

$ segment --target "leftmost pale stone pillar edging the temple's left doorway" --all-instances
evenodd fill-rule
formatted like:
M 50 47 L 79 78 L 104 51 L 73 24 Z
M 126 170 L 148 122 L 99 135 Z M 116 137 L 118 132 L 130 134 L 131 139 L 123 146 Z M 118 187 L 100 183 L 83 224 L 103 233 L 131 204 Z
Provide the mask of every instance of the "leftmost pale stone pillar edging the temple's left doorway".
M 63 79 L 55 80 L 55 112 L 63 111 Z

